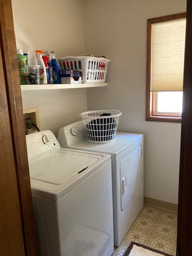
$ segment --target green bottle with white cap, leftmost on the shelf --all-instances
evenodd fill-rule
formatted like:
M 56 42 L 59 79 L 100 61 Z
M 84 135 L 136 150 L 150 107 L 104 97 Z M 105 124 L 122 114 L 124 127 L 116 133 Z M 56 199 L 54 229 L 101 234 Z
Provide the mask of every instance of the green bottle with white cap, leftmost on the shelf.
M 27 74 L 26 74 L 27 56 L 23 54 L 22 49 L 17 49 L 17 59 L 18 59 L 18 66 L 19 66 L 20 84 L 27 84 Z

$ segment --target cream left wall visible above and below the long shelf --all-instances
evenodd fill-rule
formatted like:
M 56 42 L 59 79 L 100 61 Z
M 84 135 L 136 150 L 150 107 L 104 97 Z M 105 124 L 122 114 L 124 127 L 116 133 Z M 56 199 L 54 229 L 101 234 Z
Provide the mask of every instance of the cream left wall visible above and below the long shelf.
M 81 0 L 12 0 L 16 46 L 23 52 L 49 50 L 59 57 L 84 53 Z M 22 91 L 23 108 L 38 107 L 41 130 L 81 120 L 86 89 Z

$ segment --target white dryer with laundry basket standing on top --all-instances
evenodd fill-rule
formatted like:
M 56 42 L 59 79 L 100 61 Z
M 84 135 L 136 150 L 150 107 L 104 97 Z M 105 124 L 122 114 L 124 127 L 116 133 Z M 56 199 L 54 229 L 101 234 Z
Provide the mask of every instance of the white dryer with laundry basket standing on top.
M 117 132 L 113 142 L 90 143 L 83 121 L 60 128 L 61 147 L 111 155 L 114 244 L 119 246 L 143 207 L 143 134 Z

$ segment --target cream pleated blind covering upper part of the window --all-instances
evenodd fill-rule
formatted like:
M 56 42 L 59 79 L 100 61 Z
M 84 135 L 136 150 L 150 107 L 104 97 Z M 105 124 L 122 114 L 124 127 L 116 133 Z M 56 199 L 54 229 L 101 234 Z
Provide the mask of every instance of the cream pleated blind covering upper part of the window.
M 182 91 L 186 18 L 151 26 L 151 91 Z

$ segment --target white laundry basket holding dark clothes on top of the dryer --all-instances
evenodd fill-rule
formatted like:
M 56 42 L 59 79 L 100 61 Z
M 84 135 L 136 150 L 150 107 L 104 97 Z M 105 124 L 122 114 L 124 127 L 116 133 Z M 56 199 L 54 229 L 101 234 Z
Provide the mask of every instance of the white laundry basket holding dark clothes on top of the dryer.
M 88 141 L 96 144 L 112 142 L 121 114 L 119 110 L 95 110 L 81 113 Z

